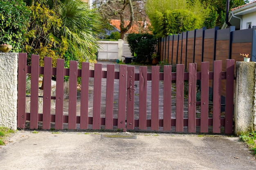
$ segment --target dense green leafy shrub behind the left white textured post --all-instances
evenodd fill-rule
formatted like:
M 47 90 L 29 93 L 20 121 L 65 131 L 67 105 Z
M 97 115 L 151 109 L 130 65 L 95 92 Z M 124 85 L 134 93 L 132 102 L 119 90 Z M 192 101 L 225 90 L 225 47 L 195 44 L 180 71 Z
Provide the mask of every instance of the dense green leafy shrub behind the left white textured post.
M 0 44 L 12 45 L 11 52 L 24 48 L 30 12 L 23 0 L 0 1 Z

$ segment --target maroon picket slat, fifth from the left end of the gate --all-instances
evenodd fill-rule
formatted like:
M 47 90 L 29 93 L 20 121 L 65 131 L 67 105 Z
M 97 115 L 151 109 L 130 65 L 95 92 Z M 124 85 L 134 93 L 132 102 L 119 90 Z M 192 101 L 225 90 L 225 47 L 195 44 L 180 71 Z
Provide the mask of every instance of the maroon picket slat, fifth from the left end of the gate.
M 68 129 L 76 129 L 77 61 L 70 61 Z

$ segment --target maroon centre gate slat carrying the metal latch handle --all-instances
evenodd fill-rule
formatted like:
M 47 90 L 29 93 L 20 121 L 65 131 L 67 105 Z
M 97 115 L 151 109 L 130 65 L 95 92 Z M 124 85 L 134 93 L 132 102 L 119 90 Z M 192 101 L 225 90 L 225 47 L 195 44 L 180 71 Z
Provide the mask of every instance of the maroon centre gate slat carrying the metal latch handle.
M 127 67 L 127 129 L 134 129 L 134 66 Z

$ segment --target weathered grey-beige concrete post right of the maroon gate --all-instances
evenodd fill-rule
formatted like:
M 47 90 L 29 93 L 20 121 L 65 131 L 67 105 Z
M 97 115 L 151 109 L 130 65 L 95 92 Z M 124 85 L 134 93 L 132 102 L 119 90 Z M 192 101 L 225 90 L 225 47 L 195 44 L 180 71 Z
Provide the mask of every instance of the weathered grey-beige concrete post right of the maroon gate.
M 234 133 L 256 130 L 256 62 L 236 62 Z

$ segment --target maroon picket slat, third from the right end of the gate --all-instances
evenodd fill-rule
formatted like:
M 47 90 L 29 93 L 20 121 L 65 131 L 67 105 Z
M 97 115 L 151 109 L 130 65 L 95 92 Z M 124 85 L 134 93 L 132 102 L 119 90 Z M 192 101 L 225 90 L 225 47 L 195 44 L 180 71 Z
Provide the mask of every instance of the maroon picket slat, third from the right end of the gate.
M 209 62 L 202 62 L 201 68 L 201 120 L 200 132 L 208 133 L 209 114 Z

